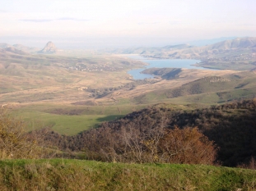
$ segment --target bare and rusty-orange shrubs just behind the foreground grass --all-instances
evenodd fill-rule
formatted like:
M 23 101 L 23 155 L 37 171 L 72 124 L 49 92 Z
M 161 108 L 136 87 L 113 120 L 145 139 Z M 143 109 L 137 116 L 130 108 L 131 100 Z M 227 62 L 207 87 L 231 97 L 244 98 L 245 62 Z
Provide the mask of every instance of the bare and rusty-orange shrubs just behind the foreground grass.
M 94 150 L 87 147 L 87 156 L 92 159 L 98 153 L 102 161 L 213 164 L 216 148 L 198 128 L 169 130 L 164 124 L 147 130 L 133 125 L 103 129 L 91 139 Z

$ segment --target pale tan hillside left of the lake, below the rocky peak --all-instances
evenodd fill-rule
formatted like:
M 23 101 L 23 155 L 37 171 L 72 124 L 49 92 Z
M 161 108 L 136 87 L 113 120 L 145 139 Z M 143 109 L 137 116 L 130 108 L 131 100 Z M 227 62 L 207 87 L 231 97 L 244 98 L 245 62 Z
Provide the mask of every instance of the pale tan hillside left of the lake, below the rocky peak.
M 83 89 L 129 83 L 126 70 L 143 66 L 141 61 L 123 57 L 82 52 L 80 57 L 29 54 L 13 47 L 0 49 L 0 59 L 1 103 L 59 98 L 77 102 L 79 97 L 87 101 L 91 93 Z M 98 81 L 99 78 L 102 80 Z

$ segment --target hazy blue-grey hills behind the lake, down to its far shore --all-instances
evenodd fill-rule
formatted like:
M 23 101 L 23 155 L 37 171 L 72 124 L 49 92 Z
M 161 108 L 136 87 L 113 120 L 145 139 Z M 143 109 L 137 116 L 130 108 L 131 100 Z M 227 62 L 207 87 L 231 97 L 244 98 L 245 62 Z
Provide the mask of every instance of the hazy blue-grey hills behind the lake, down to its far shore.
M 198 59 L 201 61 L 204 59 L 208 61 L 208 58 L 213 59 L 212 61 L 255 60 L 256 55 L 254 53 L 256 52 L 256 38 L 247 37 L 230 39 L 202 47 L 179 44 L 160 48 L 115 49 L 110 52 L 140 54 L 142 57 L 164 59 Z M 218 57 L 215 57 L 216 55 Z

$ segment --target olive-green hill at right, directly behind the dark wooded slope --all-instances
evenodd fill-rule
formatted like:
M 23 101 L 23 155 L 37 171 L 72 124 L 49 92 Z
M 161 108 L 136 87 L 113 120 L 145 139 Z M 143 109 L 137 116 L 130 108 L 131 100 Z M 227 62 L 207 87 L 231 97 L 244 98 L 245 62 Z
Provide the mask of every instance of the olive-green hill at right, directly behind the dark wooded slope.
M 238 75 L 226 75 L 223 81 L 211 82 L 211 77 L 202 78 L 181 85 L 178 88 L 163 89 L 144 93 L 134 98 L 135 102 L 201 102 L 221 103 L 238 98 L 254 98 L 256 95 L 256 75 L 248 71 Z

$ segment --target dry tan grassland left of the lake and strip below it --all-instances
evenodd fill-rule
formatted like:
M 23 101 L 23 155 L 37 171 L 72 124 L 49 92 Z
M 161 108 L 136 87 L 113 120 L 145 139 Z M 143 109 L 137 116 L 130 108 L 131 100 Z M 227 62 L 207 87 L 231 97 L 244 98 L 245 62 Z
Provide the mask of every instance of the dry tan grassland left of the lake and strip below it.
M 80 55 L 81 56 L 81 55 Z M 35 61 L 27 59 L 33 58 Z M 16 59 L 10 57 L 2 61 L 0 72 L 0 103 L 71 103 L 87 101 L 90 94 L 79 89 L 83 87 L 102 88 L 118 87 L 130 82 L 126 70 L 137 66 L 142 66 L 141 62 L 131 61 L 126 57 L 109 55 L 86 55 L 84 63 L 91 66 L 122 66 L 123 70 L 118 71 L 79 71 L 67 70 L 65 67 L 76 65 L 77 57 L 60 56 L 27 56 Z M 71 63 L 70 63 L 71 62 Z M 123 64 L 124 63 L 124 64 Z M 126 63 L 130 63 L 126 65 Z M 235 73 L 232 70 L 183 70 L 177 80 L 160 80 L 156 84 L 140 85 L 133 90 L 122 90 L 120 94 L 114 94 L 114 98 L 134 98 L 142 93 L 147 93 L 159 89 L 169 89 L 178 87 L 189 81 L 198 80 L 208 75 L 226 75 Z M 109 102 L 109 98 L 101 98 L 99 102 Z M 114 103 L 114 102 L 112 102 Z

